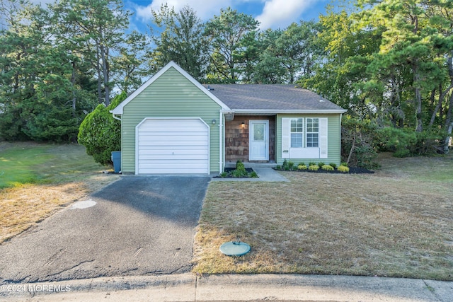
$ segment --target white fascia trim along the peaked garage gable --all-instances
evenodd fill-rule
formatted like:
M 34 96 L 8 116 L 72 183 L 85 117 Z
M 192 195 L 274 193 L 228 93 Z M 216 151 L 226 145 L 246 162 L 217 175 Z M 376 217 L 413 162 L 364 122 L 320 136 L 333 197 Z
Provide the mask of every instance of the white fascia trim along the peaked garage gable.
M 205 86 L 202 86 L 202 84 L 200 84 L 197 80 L 193 79 L 192 76 L 190 76 L 190 74 L 188 74 L 186 71 L 184 71 L 182 68 L 180 68 L 180 66 L 178 66 L 178 64 L 176 64 L 175 62 L 171 61 L 170 63 L 166 64 L 166 66 L 164 66 L 164 68 L 162 68 L 161 70 L 159 70 L 159 72 L 157 72 L 156 74 L 154 74 L 154 76 L 151 76 L 151 79 L 149 79 L 148 81 L 146 81 L 142 86 L 140 86 L 139 88 L 137 88 L 136 91 L 134 91 L 134 93 L 132 93 L 131 95 L 129 95 L 125 100 L 123 100 L 120 105 L 117 105 L 117 107 L 115 109 L 113 109 L 111 112 L 114 114 L 114 115 L 122 115 L 122 111 L 123 111 L 123 108 L 125 107 L 125 105 L 127 105 L 131 100 L 133 100 L 137 95 L 139 95 L 139 93 L 142 93 L 142 91 L 144 91 L 149 85 L 151 85 L 152 83 L 154 83 L 154 81 L 156 81 L 156 79 L 159 79 L 159 77 L 164 74 L 168 69 L 170 69 L 171 67 L 173 67 L 174 69 L 176 69 L 180 74 L 182 74 L 183 76 L 185 76 L 186 79 L 188 79 L 190 82 L 192 82 L 195 86 L 197 86 L 197 88 L 199 88 L 202 92 L 204 92 L 207 96 L 209 96 L 212 100 L 214 100 L 215 103 L 217 103 L 220 107 L 222 107 L 222 110 L 229 110 L 229 107 L 227 105 L 225 105 L 222 100 L 219 100 L 219 98 L 217 98 L 215 95 L 213 95 L 212 93 L 210 93 L 210 91 L 207 90 L 207 88 L 205 88 Z

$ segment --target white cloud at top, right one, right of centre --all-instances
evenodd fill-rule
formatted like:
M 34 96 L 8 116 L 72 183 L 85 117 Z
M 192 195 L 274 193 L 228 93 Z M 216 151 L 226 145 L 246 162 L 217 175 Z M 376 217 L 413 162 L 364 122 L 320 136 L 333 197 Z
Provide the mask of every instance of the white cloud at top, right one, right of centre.
M 310 6 L 319 0 L 266 0 L 263 13 L 256 17 L 260 28 L 286 28 L 293 22 L 299 22 L 299 17 Z

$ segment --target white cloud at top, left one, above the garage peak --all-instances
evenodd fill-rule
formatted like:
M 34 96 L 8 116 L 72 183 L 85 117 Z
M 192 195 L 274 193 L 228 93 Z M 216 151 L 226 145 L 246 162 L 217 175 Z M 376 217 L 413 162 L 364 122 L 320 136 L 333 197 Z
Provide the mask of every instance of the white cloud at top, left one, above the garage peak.
M 159 11 L 162 4 L 168 4 L 168 7 L 174 7 L 175 11 L 179 11 L 185 5 L 190 6 L 197 12 L 197 16 L 202 20 L 212 18 L 220 13 L 220 8 L 232 6 L 231 0 L 222 1 L 206 1 L 206 0 L 154 0 L 148 6 L 137 6 L 137 17 L 144 21 L 148 21 L 151 17 L 151 9 Z

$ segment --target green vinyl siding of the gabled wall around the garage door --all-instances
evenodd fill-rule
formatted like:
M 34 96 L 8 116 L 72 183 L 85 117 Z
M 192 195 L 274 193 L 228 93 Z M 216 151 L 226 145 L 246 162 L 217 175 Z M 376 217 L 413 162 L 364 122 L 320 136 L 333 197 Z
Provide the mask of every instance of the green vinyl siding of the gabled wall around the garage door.
M 210 126 L 210 172 L 219 172 L 220 106 L 171 67 L 123 109 L 122 172 L 135 173 L 135 127 L 146 117 L 200 117 Z M 212 124 L 212 120 L 216 120 Z

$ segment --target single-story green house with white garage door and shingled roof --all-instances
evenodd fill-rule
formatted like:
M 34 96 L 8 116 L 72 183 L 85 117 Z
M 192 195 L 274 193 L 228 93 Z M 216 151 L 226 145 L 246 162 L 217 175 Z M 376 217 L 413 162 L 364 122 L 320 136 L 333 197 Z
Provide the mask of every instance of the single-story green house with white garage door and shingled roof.
M 214 174 L 226 163 L 340 164 L 343 108 L 293 85 L 202 85 L 170 62 L 114 110 L 122 173 Z

